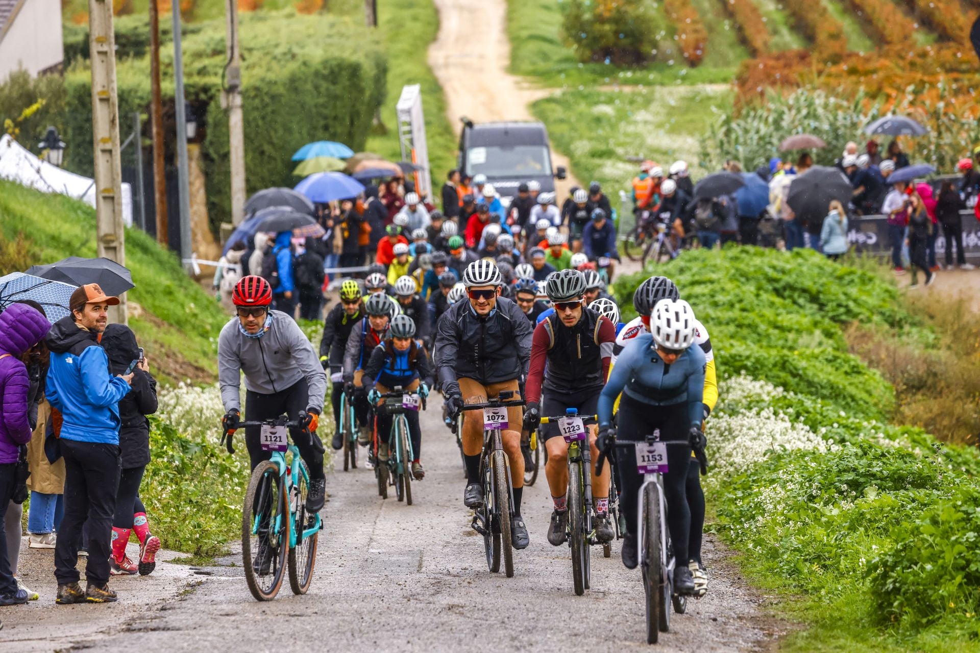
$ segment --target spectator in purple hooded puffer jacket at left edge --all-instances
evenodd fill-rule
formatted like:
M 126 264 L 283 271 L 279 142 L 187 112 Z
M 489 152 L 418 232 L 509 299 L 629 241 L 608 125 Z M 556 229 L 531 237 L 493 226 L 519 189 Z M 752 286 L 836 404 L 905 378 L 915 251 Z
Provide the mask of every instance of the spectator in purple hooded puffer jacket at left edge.
M 44 314 L 25 303 L 13 303 L 0 314 L 0 509 L 4 511 L 0 520 L 4 530 L 0 537 L 0 605 L 37 597 L 14 578 L 21 550 L 21 504 L 26 498 L 26 444 L 32 432 L 31 384 L 22 357 L 50 329 Z M 12 517 L 18 518 L 16 522 Z

